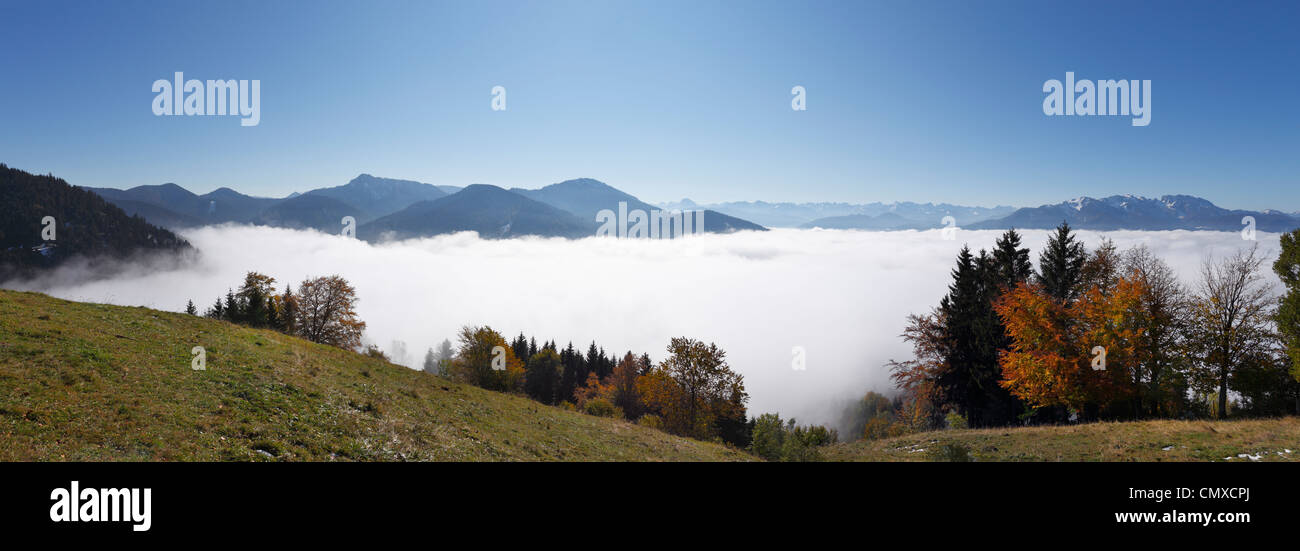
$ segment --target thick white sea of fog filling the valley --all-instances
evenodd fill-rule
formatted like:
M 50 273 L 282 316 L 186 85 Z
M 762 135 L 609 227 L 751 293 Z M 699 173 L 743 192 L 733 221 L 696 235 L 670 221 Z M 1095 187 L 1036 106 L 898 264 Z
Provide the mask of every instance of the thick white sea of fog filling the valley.
M 490 325 L 562 347 L 666 355 L 672 337 L 718 343 L 745 376 L 750 412 L 780 412 L 833 422 L 849 400 L 890 383 L 884 364 L 906 359 L 898 338 L 909 313 L 928 312 L 944 295 L 963 243 L 992 248 L 1000 231 L 777 229 L 675 240 L 588 238 L 478 239 L 462 233 L 387 244 L 272 227 L 214 226 L 183 237 L 200 256 L 179 269 L 130 266 L 110 279 L 64 283 L 69 273 L 5 283 L 53 296 L 183 311 L 205 309 L 256 270 L 295 287 L 307 277 L 339 274 L 356 287 L 365 340 L 417 368 L 425 350 L 460 326 Z M 1049 231 L 1023 231 L 1036 260 Z M 1102 237 L 1121 248 L 1145 243 L 1184 285 L 1206 255 L 1252 242 L 1238 233 L 1080 231 L 1088 247 Z M 1257 234 L 1275 257 L 1277 234 Z M 1271 261 L 1270 261 L 1271 263 Z M 65 270 L 72 270 L 66 268 Z M 406 352 L 402 353 L 402 343 Z M 793 350 L 806 351 L 803 370 Z

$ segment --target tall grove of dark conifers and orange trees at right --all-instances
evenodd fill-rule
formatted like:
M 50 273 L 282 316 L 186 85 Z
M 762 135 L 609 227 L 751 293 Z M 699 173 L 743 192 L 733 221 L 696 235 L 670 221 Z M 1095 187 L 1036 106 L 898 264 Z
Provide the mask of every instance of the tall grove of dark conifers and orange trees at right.
M 1205 259 L 1184 286 L 1145 246 L 1087 250 L 1057 227 L 1035 270 L 1020 235 L 963 247 L 939 307 L 913 314 L 914 357 L 888 364 L 896 399 L 868 395 L 859 435 L 945 425 L 1295 415 L 1300 409 L 1300 230 L 1266 277 L 1258 248 Z

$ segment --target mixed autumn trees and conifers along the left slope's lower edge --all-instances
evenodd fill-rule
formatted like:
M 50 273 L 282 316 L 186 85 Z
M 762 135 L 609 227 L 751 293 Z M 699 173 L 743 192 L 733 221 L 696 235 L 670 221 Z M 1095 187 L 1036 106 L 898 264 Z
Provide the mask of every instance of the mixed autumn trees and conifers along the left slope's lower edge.
M 356 316 L 356 292 L 338 276 L 308 278 L 294 292 L 276 279 L 248 272 L 238 288 L 218 298 L 203 316 L 273 329 L 312 342 L 360 351 L 365 322 Z M 186 312 L 198 316 L 191 300 Z M 443 339 L 425 353 L 422 370 L 486 390 L 593 416 L 621 418 L 701 441 L 745 448 L 771 460 L 819 459 L 816 447 L 833 443 L 835 430 L 801 426 L 767 413 L 748 417 L 744 377 L 715 343 L 679 337 L 667 356 L 607 353 L 592 342 L 586 351 L 555 340 L 538 343 L 520 334 L 507 342 L 490 326 L 465 326 L 454 346 Z M 385 357 L 376 347 L 364 351 Z M 385 357 L 386 359 L 386 357 Z

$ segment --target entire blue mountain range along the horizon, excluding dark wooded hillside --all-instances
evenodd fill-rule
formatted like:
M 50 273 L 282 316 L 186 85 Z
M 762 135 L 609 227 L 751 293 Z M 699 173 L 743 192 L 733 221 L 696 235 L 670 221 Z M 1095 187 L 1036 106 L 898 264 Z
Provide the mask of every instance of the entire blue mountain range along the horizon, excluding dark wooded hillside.
M 346 216 L 360 224 L 363 239 L 408 238 L 452 231 L 485 237 L 585 237 L 597 227 L 597 213 L 616 211 L 705 211 L 705 231 L 731 233 L 771 227 L 855 230 L 926 230 L 944 227 L 952 217 L 966 229 L 1052 229 L 1069 222 L 1086 230 L 1214 230 L 1236 231 L 1253 217 L 1261 231 L 1300 227 L 1300 213 L 1226 209 L 1190 195 L 1143 198 L 1113 195 L 1076 198 L 1040 207 L 970 207 L 949 203 L 768 203 L 697 204 L 690 199 L 651 205 L 590 178 L 569 179 L 537 190 L 497 186 L 433 186 L 361 174 L 337 187 L 322 187 L 282 199 L 254 198 L 230 188 L 195 195 L 174 183 L 130 190 L 88 188 L 162 227 L 239 222 L 337 233 Z

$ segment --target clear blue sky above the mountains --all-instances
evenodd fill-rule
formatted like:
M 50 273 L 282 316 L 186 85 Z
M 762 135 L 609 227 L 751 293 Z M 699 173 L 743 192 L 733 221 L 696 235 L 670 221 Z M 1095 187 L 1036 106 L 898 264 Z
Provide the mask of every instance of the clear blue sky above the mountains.
M 0 162 L 75 185 L 1300 211 L 1300 3 L 4 0 L 0 21 Z M 1150 79 L 1150 125 L 1044 116 L 1067 70 Z M 174 71 L 260 79 L 261 123 L 153 116 Z

